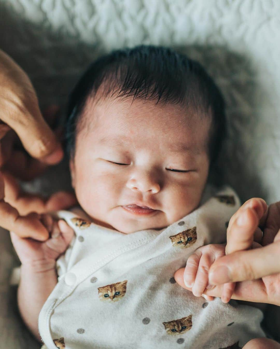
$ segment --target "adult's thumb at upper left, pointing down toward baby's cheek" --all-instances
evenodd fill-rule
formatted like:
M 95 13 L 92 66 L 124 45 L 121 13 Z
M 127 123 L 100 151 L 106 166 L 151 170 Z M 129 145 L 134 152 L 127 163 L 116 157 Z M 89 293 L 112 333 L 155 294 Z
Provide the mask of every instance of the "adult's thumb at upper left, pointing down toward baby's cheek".
M 50 164 L 59 162 L 63 156 L 62 148 L 42 117 L 29 77 L 2 50 L 0 60 L 1 120 L 15 130 L 32 157 Z

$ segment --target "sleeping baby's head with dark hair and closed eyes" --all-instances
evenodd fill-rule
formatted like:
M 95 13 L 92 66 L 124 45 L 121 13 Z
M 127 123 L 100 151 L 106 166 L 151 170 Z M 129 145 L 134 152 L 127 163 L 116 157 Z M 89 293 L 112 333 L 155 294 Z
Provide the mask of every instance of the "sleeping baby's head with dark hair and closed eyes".
M 87 69 L 66 128 L 83 210 L 123 233 L 161 229 L 198 207 L 225 132 L 224 103 L 197 62 L 139 46 Z

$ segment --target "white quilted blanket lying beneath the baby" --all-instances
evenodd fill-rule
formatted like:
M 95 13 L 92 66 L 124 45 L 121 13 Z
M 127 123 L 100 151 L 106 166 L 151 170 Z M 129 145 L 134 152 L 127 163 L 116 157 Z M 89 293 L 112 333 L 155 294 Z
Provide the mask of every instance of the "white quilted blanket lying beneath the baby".
M 29 74 L 42 107 L 65 106 L 79 74 L 98 55 L 137 44 L 175 47 L 199 60 L 227 101 L 230 135 L 224 181 L 244 201 L 280 199 L 280 1 L 0 0 L 0 47 Z M 61 164 L 29 184 L 68 188 Z M 17 264 L 0 236 L 0 349 L 36 348 L 8 292 Z

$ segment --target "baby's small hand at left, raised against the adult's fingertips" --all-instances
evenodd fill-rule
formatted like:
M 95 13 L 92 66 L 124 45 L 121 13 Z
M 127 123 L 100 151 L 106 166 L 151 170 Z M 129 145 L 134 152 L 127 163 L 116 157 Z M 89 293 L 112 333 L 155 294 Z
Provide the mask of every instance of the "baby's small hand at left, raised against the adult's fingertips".
M 22 238 L 12 231 L 10 236 L 21 263 L 38 268 L 39 272 L 54 267 L 56 259 L 71 242 L 74 230 L 64 220 L 56 221 L 49 214 L 32 213 L 29 216 L 40 220 L 49 232 L 49 238 L 45 241 Z

